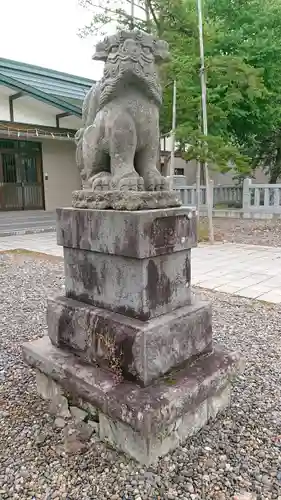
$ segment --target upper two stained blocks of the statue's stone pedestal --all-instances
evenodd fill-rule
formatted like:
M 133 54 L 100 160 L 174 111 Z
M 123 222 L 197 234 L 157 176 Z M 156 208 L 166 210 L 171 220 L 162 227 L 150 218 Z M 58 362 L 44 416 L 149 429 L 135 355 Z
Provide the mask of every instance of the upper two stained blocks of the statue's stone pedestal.
M 57 237 L 70 298 L 142 321 L 191 302 L 192 208 L 58 209 Z

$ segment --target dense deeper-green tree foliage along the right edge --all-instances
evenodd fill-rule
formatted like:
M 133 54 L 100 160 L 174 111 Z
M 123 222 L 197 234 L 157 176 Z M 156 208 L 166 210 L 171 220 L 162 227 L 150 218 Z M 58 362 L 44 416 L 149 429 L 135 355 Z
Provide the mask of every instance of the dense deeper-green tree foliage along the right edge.
M 208 0 L 208 16 L 221 26 L 216 53 L 243 58 L 260 72 L 264 91 L 233 110 L 229 130 L 251 167 L 262 165 L 271 182 L 281 175 L 280 9 L 280 0 Z

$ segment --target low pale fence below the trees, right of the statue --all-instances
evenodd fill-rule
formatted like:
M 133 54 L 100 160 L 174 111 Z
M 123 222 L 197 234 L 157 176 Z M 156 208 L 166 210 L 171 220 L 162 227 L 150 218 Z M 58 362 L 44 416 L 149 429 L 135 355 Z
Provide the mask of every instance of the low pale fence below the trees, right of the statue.
M 184 205 L 196 205 L 196 186 L 180 185 L 183 178 L 174 181 L 174 189 L 180 193 Z M 214 210 L 240 210 L 247 217 L 281 217 L 281 184 L 253 184 L 245 179 L 241 186 L 214 186 L 210 182 L 211 205 Z M 207 209 L 206 186 L 200 187 L 200 209 Z M 218 214 L 219 215 L 219 214 Z

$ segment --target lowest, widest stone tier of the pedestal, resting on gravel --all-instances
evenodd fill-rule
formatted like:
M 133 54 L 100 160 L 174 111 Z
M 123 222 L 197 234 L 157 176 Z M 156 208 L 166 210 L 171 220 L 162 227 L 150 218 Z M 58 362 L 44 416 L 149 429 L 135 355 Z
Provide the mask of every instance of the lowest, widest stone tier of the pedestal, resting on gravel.
M 68 398 L 96 408 L 100 438 L 143 464 L 176 448 L 229 404 L 229 381 L 239 367 L 237 354 L 216 349 L 142 388 L 83 364 L 47 336 L 24 344 L 23 355 Z

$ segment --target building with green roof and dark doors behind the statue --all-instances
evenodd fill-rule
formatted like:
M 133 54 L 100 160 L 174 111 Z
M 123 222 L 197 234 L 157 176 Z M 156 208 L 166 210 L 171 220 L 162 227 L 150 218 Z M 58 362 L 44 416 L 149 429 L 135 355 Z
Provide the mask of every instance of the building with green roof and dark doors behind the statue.
M 70 203 L 80 187 L 74 135 L 94 83 L 0 58 L 0 210 Z

